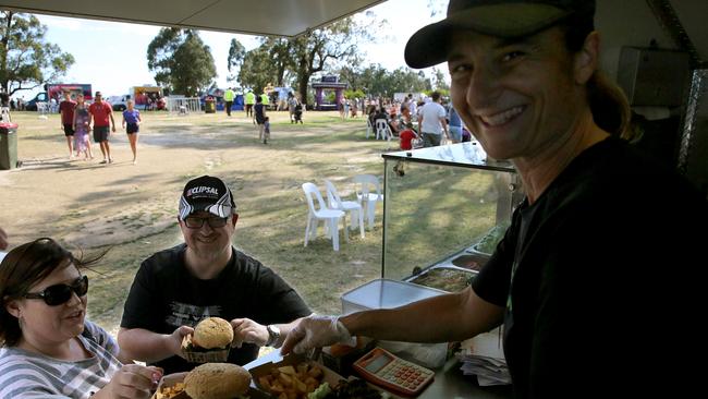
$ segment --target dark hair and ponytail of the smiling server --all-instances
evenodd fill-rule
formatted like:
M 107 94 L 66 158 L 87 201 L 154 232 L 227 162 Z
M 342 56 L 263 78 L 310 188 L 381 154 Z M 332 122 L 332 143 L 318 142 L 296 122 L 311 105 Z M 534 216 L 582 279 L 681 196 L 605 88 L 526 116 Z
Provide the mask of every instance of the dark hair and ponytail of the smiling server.
M 571 53 L 581 51 L 587 35 L 595 31 L 593 15 L 583 13 L 566 19 L 559 26 L 565 35 L 565 48 Z M 593 73 L 586 87 L 595 123 L 612 135 L 624 137 L 631 119 L 624 92 L 599 70 Z

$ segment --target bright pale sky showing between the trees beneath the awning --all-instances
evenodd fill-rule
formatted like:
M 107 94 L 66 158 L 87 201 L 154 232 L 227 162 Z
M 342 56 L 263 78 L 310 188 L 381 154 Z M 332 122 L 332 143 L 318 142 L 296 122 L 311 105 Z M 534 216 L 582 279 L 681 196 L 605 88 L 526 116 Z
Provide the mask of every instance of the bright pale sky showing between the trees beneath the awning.
M 366 45 L 365 65 L 379 63 L 388 70 L 405 66 L 403 49 L 407 39 L 420 27 L 443 17 L 438 12 L 431 16 L 430 3 L 443 8 L 440 0 L 389 0 L 371 9 L 377 19 L 388 21 L 384 28 L 376 32 L 377 44 Z M 132 86 L 155 85 L 147 69 L 147 47 L 160 27 L 37 15 L 47 26 L 46 41 L 58 45 L 62 51 L 74 56 L 75 63 L 69 69 L 62 82 L 90 83 L 94 90 L 105 96 L 123 95 Z M 257 47 L 256 36 L 234 35 L 200 31 L 204 43 L 211 48 L 219 87 L 227 87 L 227 57 L 232 38 L 251 50 Z M 428 69 L 427 72 L 430 72 Z M 22 90 L 14 97 L 30 99 L 39 89 Z

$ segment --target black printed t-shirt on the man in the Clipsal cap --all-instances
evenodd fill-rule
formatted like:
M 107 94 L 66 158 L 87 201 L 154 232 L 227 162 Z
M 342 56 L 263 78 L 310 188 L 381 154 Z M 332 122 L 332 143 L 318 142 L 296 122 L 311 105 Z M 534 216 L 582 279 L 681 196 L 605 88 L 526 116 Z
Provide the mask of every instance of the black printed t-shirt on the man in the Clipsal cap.
M 219 316 L 247 317 L 259 324 L 289 323 L 312 312 L 282 278 L 260 262 L 232 250 L 231 262 L 213 279 L 200 280 L 184 265 L 186 245 L 158 252 L 141 265 L 125 302 L 123 328 L 145 328 L 172 334 Z M 229 362 L 243 365 L 256 359 L 258 347 L 231 349 Z M 156 362 L 167 374 L 190 371 L 198 364 L 180 356 Z

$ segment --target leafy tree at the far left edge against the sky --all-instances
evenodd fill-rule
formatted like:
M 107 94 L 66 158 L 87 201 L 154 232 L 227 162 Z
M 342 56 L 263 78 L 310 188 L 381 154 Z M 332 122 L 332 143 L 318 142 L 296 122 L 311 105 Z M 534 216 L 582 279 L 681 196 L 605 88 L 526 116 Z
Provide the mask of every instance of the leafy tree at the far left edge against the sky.
M 72 55 L 45 41 L 46 33 L 34 15 L 0 12 L 0 85 L 8 94 L 56 82 L 74 63 Z

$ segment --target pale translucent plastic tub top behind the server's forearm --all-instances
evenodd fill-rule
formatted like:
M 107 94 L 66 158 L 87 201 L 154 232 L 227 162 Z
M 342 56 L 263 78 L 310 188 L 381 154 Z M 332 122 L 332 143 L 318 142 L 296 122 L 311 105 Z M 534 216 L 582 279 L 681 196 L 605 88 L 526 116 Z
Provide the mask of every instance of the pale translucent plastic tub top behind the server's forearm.
M 392 309 L 447 292 L 386 278 L 369 281 L 342 294 L 342 301 L 366 309 Z

